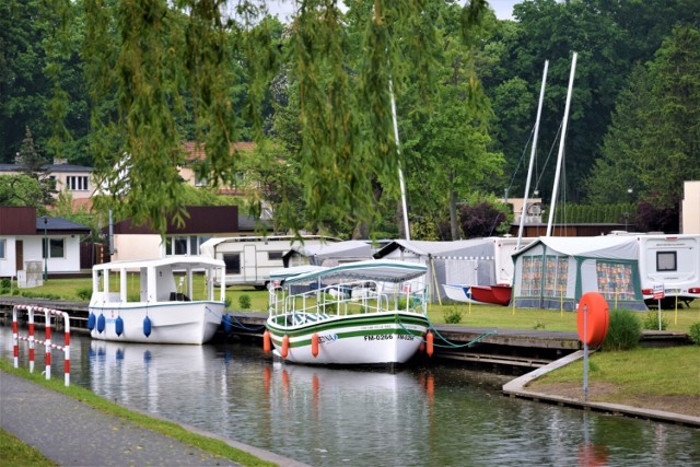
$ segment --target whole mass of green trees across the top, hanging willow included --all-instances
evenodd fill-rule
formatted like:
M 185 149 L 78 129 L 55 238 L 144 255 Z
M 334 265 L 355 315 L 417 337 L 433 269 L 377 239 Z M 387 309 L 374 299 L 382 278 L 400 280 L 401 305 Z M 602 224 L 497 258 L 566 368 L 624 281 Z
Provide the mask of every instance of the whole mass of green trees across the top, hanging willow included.
M 194 140 L 212 188 L 245 174 L 249 213 L 359 237 L 398 233 L 400 166 L 416 232 L 456 238 L 471 194 L 523 194 L 545 60 L 533 188 L 550 200 L 576 51 L 565 199 L 666 209 L 700 178 L 697 0 L 524 0 L 515 21 L 485 0 L 304 0 L 288 24 L 267 3 L 2 2 L 0 162 L 28 128 L 47 160 L 95 167 L 97 210 L 163 229 Z

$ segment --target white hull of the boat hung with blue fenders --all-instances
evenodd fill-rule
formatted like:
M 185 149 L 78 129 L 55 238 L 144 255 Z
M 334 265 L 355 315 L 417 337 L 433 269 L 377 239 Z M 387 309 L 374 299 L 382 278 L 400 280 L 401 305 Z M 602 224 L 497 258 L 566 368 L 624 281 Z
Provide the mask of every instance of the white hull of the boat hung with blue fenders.
M 156 305 L 109 304 L 91 305 L 95 326 L 90 331 L 93 339 L 117 342 L 190 343 L 201 345 L 214 336 L 221 325 L 223 302 L 163 302 Z M 104 316 L 104 329 L 100 316 Z M 150 335 L 145 335 L 144 318 L 150 319 Z M 117 334 L 117 318 L 124 324 Z

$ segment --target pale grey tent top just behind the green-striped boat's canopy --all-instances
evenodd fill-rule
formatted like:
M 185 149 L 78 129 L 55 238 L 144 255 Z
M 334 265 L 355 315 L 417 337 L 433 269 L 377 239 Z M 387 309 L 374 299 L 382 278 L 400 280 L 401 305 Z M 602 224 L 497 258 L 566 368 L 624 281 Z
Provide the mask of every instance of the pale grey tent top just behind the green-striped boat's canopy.
M 282 260 L 285 268 L 305 264 L 335 267 L 341 262 L 372 259 L 372 245 L 360 240 L 318 245 L 296 244 L 282 256 Z

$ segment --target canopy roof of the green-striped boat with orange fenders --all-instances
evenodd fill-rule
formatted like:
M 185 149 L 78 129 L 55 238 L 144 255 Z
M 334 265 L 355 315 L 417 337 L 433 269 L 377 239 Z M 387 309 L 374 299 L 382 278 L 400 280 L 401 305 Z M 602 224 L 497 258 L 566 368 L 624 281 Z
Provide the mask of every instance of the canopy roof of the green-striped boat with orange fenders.
M 318 280 L 350 279 L 377 282 L 405 282 L 419 278 L 428 271 L 424 265 L 395 261 L 389 259 L 348 262 L 334 268 L 318 270 L 289 277 L 287 284 L 304 284 Z

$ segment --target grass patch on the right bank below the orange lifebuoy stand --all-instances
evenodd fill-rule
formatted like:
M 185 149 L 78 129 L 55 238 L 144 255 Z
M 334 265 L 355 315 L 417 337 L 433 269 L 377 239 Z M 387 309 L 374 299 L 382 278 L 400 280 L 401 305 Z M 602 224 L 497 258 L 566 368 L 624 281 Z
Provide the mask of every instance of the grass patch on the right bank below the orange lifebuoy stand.
M 625 402 L 641 396 L 700 397 L 700 349 L 697 346 L 638 348 L 591 355 L 592 381 L 611 383 L 619 392 L 610 402 Z M 582 382 L 583 361 L 579 360 L 532 384 Z

